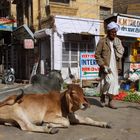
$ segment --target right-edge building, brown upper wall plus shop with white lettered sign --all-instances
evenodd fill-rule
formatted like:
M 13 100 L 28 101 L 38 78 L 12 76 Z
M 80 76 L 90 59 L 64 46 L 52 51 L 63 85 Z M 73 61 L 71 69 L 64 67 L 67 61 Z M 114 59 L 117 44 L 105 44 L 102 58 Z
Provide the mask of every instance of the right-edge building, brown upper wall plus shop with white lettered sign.
M 121 26 L 118 36 L 125 47 L 125 73 L 133 68 L 140 68 L 140 1 L 114 0 L 113 9 L 116 12 L 113 17 L 116 17 L 116 22 Z

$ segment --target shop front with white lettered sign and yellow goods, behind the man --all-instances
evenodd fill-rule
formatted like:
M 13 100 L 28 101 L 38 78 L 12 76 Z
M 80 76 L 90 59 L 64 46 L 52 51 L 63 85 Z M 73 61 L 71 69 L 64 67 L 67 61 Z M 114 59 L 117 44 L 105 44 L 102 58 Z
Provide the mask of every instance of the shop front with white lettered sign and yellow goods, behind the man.
M 105 23 L 115 21 L 120 29 L 117 32 L 125 48 L 123 74 L 134 68 L 140 68 L 140 16 L 114 13 Z

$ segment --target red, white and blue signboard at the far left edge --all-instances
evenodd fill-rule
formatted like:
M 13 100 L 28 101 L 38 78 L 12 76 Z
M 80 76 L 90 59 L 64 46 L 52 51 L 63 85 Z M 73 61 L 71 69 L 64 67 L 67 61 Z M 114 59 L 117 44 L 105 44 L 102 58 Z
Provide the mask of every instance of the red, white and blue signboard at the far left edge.
M 13 31 L 14 27 L 15 27 L 15 20 L 0 18 L 0 30 Z

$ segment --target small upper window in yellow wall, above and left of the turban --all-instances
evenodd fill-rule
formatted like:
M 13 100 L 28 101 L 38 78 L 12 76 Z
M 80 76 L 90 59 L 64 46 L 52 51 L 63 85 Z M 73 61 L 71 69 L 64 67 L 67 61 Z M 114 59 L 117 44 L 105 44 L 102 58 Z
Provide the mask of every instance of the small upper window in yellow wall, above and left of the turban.
M 111 8 L 100 7 L 100 19 L 104 20 L 111 14 Z

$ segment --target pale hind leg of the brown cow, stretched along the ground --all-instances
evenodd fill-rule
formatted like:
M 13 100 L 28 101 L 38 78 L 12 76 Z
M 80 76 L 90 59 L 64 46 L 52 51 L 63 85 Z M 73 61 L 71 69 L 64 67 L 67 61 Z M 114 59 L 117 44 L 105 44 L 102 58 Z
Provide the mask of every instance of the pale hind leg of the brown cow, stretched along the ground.
M 20 107 L 16 107 L 14 110 L 13 118 L 21 127 L 22 130 L 34 131 L 34 132 L 45 132 L 54 134 L 58 132 L 58 129 L 47 127 L 47 126 L 37 126 L 28 119 L 25 112 Z

